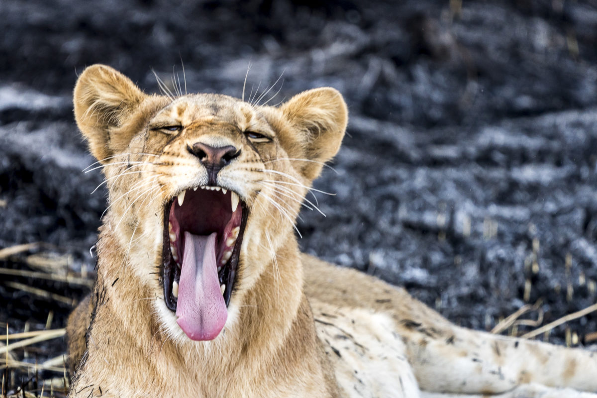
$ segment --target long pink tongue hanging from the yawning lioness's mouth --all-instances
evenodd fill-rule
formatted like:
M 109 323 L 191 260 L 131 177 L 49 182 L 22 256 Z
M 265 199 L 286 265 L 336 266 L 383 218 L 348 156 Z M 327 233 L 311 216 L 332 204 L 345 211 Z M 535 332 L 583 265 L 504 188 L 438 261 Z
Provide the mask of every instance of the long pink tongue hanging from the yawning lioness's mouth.
M 184 232 L 176 322 L 192 340 L 216 338 L 228 315 L 216 266 L 216 236 Z

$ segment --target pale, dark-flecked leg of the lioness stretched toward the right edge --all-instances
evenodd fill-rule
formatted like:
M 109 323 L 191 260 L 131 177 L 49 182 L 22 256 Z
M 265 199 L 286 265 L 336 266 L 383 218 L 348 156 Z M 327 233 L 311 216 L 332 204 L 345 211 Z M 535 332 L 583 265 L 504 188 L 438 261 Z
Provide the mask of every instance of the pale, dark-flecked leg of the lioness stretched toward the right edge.
M 457 326 L 437 336 L 415 329 L 407 352 L 422 390 L 500 394 L 538 384 L 597 392 L 597 353 Z

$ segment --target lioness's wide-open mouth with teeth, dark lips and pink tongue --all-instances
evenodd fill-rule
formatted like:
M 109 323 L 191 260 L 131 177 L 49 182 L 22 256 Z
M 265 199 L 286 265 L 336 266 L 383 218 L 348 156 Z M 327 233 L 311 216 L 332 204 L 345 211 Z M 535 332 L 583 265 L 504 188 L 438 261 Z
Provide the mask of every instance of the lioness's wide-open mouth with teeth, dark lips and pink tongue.
M 165 206 L 164 300 L 192 340 L 212 340 L 226 323 L 247 215 L 221 187 L 187 189 Z

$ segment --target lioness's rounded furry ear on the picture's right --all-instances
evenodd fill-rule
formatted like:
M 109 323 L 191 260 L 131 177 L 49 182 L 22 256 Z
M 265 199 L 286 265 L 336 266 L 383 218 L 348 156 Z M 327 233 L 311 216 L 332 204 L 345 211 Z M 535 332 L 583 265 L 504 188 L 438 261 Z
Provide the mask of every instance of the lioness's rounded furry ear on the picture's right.
M 300 157 L 313 162 L 296 162 L 303 175 L 314 180 L 340 149 L 346 131 L 348 110 L 340 92 L 322 87 L 303 91 L 280 107 L 285 118 L 300 131 Z

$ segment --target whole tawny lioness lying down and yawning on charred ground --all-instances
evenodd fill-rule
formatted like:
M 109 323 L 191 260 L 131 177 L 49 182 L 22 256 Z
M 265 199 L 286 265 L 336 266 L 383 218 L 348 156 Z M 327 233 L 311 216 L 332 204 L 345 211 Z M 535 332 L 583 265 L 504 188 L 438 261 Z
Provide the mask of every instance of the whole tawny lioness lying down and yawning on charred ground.
M 595 353 L 459 328 L 300 254 L 299 206 L 347 124 L 336 90 L 146 95 L 96 65 L 74 103 L 109 208 L 69 396 L 597 397 L 578 392 L 597 391 Z

